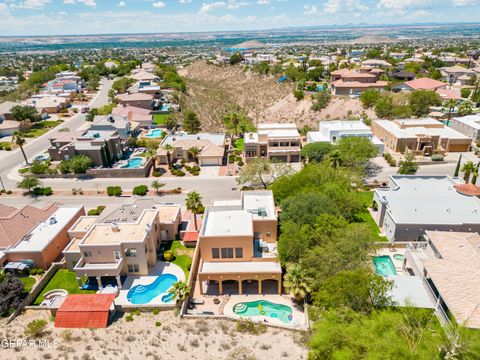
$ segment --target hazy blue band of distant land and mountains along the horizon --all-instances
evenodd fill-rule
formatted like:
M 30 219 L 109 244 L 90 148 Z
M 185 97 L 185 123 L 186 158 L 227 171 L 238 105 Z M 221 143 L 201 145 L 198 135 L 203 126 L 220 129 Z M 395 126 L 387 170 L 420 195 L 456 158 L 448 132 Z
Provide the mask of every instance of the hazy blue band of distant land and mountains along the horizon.
M 370 40 L 376 38 L 377 42 L 389 42 L 452 36 L 479 37 L 480 23 L 347 24 L 240 32 L 0 36 L 0 52 L 166 46 L 233 47 L 251 41 L 267 46 L 293 43 L 345 43 L 362 39 L 362 37 Z M 365 43 L 371 43 L 371 41 Z

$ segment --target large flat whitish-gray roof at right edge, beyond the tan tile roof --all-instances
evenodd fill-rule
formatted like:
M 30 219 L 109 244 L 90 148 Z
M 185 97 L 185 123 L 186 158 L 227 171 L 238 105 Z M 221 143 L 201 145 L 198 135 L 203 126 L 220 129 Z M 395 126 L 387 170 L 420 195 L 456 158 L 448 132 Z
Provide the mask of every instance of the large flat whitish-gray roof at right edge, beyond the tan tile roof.
M 480 224 L 480 199 L 462 195 L 448 176 L 392 175 L 397 187 L 375 189 L 396 223 Z

